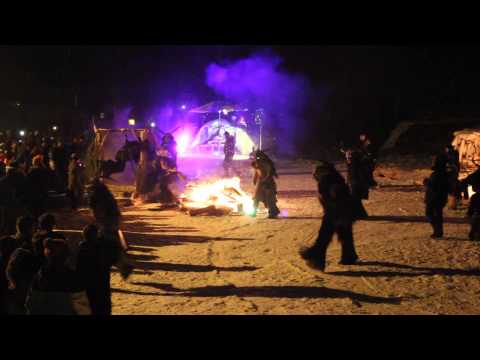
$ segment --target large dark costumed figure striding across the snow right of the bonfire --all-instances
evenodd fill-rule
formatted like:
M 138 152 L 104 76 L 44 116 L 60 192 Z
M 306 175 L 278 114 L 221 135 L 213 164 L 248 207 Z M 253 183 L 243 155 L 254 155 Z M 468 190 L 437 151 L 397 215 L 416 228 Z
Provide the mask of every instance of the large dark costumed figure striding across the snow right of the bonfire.
M 318 184 L 319 200 L 324 215 L 315 244 L 302 249 L 300 255 L 309 266 L 324 271 L 328 246 L 333 235 L 337 234 L 342 246 L 340 264 L 352 265 L 358 260 L 353 242 L 353 223 L 356 219 L 355 200 L 345 180 L 332 164 L 321 162 L 313 176 Z

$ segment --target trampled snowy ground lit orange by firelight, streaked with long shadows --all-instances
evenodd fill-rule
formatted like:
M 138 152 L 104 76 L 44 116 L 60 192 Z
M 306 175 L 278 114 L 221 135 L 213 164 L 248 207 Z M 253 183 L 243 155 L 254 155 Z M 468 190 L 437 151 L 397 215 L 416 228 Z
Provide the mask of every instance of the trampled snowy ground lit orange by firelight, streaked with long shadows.
M 298 250 L 314 241 L 322 217 L 311 170 L 279 166 L 288 215 L 278 220 L 124 208 L 137 270 L 128 282 L 113 274 L 114 314 L 480 314 L 480 245 L 468 240 L 464 209 L 446 211 L 445 238 L 430 239 L 425 169 L 381 166 L 382 186 L 365 202 L 372 218 L 354 228 L 360 263 L 338 265 L 335 241 L 326 273 L 308 268 Z M 251 190 L 247 168 L 243 175 Z M 88 222 L 59 217 L 62 229 Z

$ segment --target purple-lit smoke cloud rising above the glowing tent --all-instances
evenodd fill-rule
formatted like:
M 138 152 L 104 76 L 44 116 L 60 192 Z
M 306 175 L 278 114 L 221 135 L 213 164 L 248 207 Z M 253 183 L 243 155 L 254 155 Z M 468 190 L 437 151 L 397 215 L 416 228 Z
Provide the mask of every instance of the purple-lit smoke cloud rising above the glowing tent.
M 270 53 L 253 54 L 225 65 L 210 64 L 206 83 L 226 100 L 263 108 L 266 127 L 273 129 L 278 151 L 295 152 L 295 142 L 305 133 L 303 112 L 310 94 L 310 84 L 300 74 L 282 70 L 282 59 Z

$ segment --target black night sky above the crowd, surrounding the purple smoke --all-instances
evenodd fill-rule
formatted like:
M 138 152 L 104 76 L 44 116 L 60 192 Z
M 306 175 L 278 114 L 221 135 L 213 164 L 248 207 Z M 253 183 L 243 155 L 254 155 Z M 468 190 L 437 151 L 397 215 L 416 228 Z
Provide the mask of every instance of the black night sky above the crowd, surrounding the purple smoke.
M 367 131 L 381 142 L 399 121 L 480 113 L 480 52 L 458 46 L 1 46 L 0 126 L 90 126 L 111 106 L 217 96 L 205 68 L 271 49 L 314 89 L 304 154 Z M 17 103 L 21 105 L 18 106 Z

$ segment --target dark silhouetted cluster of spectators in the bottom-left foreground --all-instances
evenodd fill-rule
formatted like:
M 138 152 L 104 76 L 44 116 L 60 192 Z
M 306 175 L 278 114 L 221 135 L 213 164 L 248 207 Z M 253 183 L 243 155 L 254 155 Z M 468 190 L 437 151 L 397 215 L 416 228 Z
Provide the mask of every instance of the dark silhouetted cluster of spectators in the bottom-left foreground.
M 90 189 L 95 222 L 83 230 L 75 256 L 55 217 L 17 219 L 16 234 L 0 239 L 0 313 L 32 315 L 110 315 L 110 272 L 124 279 L 133 271 L 119 238 L 120 211 L 108 190 L 95 180 Z

